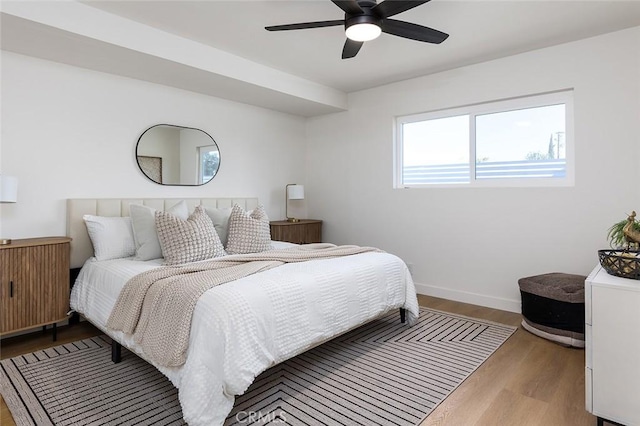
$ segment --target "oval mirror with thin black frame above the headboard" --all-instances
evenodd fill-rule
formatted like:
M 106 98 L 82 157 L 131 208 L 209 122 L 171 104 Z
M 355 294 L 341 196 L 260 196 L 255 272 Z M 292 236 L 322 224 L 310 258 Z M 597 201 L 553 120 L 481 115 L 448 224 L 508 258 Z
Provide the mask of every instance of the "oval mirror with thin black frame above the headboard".
M 157 124 L 138 138 L 136 161 L 160 185 L 204 185 L 218 173 L 220 150 L 200 129 Z

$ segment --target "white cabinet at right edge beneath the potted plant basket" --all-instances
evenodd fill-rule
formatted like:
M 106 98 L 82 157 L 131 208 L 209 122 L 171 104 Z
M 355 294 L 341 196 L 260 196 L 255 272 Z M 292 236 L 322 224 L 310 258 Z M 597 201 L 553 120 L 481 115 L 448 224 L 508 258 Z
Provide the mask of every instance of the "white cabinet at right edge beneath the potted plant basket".
M 586 404 L 602 419 L 640 426 L 640 280 L 599 265 L 585 282 Z

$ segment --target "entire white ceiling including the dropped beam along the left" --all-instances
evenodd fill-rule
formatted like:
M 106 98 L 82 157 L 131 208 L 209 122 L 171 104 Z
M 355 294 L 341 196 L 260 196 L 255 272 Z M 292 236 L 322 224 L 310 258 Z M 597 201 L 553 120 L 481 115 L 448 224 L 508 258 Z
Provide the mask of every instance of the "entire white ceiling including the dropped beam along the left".
M 640 0 L 432 0 L 394 19 L 450 34 L 442 44 L 382 34 L 342 60 L 342 27 L 264 30 L 341 19 L 330 0 L 81 3 L 2 0 L 2 48 L 305 116 L 346 109 L 353 91 L 640 25 Z

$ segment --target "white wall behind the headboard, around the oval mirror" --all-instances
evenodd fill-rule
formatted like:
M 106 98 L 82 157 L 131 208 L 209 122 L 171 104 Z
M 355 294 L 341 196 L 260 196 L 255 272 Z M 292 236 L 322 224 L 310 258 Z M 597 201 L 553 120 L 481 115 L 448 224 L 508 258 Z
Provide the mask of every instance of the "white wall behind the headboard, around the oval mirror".
M 284 218 L 284 186 L 304 181 L 303 118 L 138 80 L 2 52 L 0 173 L 19 178 L 0 206 L 0 235 L 64 235 L 65 199 L 251 197 Z M 135 160 L 159 123 L 209 133 L 220 170 L 199 187 L 161 186 Z

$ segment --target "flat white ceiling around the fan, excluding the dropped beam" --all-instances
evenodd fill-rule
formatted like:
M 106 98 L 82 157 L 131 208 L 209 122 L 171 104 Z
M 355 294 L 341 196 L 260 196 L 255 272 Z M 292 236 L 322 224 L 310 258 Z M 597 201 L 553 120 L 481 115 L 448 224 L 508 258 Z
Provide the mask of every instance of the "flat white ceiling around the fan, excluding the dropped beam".
M 342 19 L 330 0 L 90 1 L 88 5 L 345 92 L 640 25 L 638 1 L 433 0 L 394 17 L 446 32 L 441 45 L 388 34 L 340 59 L 344 28 L 267 32 Z

